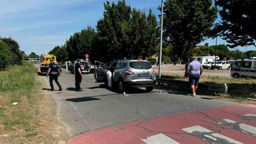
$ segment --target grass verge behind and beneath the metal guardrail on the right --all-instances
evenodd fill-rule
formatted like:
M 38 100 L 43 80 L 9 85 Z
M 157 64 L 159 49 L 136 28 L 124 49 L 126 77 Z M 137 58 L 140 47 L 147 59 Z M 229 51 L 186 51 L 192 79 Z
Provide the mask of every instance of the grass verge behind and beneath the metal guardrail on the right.
M 162 78 L 184 80 L 183 75 L 175 74 L 161 74 Z M 215 83 L 221 84 L 226 83 L 228 86 L 228 91 L 226 94 L 217 94 L 218 97 L 224 99 L 230 99 L 231 101 L 246 101 L 250 100 L 252 103 L 256 103 L 256 79 L 246 78 L 246 79 L 233 79 L 233 78 L 222 78 L 222 77 L 210 77 L 201 76 L 200 81 L 203 83 Z M 190 92 L 188 87 L 176 86 L 176 85 L 164 85 L 166 88 L 171 88 L 175 90 L 181 90 L 185 92 Z M 199 90 L 197 94 L 199 95 L 212 95 L 212 92 Z

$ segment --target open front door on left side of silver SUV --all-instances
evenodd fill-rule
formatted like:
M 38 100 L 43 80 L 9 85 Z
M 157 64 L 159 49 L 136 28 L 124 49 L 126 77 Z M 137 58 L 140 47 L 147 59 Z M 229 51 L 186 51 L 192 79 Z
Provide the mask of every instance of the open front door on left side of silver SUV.
M 108 70 L 108 67 L 102 63 L 95 61 L 94 62 L 94 82 L 95 80 L 97 82 L 104 82 L 104 78 L 107 76 L 106 72 Z

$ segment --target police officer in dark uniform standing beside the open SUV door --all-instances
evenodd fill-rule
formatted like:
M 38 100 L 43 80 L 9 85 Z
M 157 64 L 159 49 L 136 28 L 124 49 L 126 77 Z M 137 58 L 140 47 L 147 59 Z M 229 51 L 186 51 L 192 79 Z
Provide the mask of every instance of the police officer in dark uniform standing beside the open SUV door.
M 76 91 L 83 91 L 83 89 L 80 87 L 83 75 L 81 71 L 81 66 L 80 66 L 81 59 L 77 59 L 77 63 L 75 64 L 75 86 L 76 86 Z

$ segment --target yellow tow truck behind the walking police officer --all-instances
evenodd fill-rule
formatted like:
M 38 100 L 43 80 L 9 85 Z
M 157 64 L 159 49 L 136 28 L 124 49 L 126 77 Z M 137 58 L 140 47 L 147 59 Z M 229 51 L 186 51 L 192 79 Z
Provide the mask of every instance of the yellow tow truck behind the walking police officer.
M 40 56 L 40 72 L 41 74 L 47 74 L 48 73 L 48 66 L 51 63 L 50 60 L 53 60 L 55 64 L 58 65 L 56 56 L 53 54 L 42 54 Z M 59 69 L 62 68 L 62 65 L 58 65 Z M 62 70 L 60 69 L 60 72 Z

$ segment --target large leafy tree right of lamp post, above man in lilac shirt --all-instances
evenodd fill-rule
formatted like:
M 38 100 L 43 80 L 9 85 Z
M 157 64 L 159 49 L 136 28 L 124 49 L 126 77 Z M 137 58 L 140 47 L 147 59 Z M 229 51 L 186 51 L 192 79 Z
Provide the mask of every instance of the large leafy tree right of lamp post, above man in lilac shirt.
M 212 0 L 166 0 L 164 2 L 163 31 L 167 42 L 183 60 L 191 50 L 209 36 L 217 18 Z M 159 8 L 160 9 L 160 8 Z

